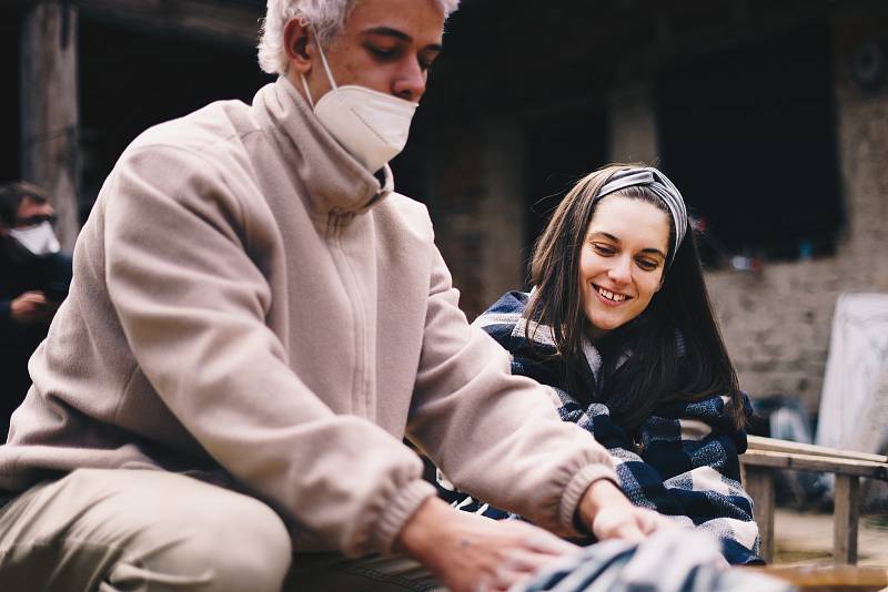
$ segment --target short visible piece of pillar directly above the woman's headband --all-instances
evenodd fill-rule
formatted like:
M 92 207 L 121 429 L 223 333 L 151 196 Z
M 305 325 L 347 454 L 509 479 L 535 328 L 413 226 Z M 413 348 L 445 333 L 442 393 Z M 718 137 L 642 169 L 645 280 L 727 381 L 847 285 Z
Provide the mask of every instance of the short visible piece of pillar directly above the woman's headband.
M 645 162 L 657 157 L 654 100 L 646 82 L 618 84 L 608 98 L 610 162 Z

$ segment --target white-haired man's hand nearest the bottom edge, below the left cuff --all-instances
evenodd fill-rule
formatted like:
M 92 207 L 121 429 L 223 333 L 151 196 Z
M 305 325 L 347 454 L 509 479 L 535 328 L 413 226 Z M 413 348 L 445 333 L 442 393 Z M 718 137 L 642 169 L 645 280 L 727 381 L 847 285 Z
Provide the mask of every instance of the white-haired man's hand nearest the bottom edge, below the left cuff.
M 427 499 L 396 548 L 432 570 L 452 592 L 505 591 L 578 547 L 518 521 L 494 521 Z

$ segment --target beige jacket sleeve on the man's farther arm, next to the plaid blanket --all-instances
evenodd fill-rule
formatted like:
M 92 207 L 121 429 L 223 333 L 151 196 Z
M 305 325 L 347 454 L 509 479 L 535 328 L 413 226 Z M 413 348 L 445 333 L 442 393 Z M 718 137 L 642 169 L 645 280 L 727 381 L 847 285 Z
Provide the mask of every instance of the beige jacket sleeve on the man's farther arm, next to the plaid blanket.
M 457 489 L 556 532 L 575 532 L 591 483 L 615 480 L 607 451 L 562 422 L 546 391 L 512 376 L 507 353 L 470 327 L 437 252 L 408 431 Z

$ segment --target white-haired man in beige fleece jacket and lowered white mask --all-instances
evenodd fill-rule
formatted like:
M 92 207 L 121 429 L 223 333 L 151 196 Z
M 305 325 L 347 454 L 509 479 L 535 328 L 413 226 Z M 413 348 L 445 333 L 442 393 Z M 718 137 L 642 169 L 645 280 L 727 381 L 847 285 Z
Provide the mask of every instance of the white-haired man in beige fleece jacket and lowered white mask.
M 0 447 L 4 590 L 504 590 L 575 550 L 543 528 L 658 527 L 392 191 L 456 3 L 270 0 L 279 80 L 124 151 Z

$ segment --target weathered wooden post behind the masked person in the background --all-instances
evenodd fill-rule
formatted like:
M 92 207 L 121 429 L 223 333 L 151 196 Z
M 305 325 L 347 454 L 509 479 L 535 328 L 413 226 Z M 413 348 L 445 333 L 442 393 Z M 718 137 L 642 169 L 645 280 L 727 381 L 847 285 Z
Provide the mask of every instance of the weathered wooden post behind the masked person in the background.
M 21 35 L 21 177 L 44 187 L 62 249 L 80 228 L 77 13 L 65 0 L 36 3 Z

